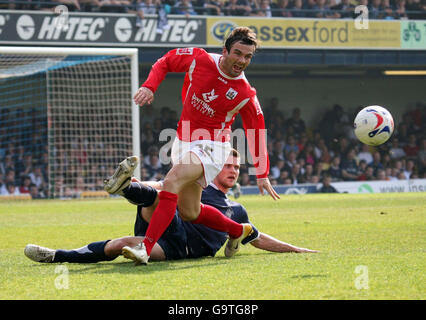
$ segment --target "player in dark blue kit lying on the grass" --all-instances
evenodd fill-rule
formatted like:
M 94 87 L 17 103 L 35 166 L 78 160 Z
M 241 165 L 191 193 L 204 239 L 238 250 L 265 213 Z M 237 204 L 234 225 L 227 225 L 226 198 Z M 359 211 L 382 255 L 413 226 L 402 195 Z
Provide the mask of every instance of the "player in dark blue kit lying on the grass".
M 250 223 L 245 208 L 226 196 L 238 179 L 239 168 L 240 158 L 238 152 L 233 150 L 214 182 L 203 191 L 202 202 L 218 208 L 234 221 Z M 127 174 L 131 176 L 132 173 L 133 171 L 130 170 Z M 138 247 L 144 239 L 149 221 L 158 203 L 159 192 L 154 187 L 160 188 L 161 183 L 153 181 L 141 183 L 132 179 L 132 182 L 123 190 L 125 198 L 138 205 L 134 237 L 93 242 L 73 250 L 53 250 L 29 244 L 25 247 L 25 255 L 36 262 L 94 263 L 114 260 L 123 254 L 126 258 L 139 264 Z M 272 252 L 317 252 L 282 242 L 266 233 L 259 232 L 253 225 L 252 227 L 253 232 L 242 241 L 243 244 L 250 243 L 258 249 Z M 227 235 L 224 232 L 182 220 L 177 210 L 172 223 L 153 247 L 150 261 L 214 256 L 223 246 L 226 238 Z M 226 256 L 232 256 L 235 253 L 232 252 L 230 255 L 226 252 L 227 249 L 229 250 L 225 247 Z

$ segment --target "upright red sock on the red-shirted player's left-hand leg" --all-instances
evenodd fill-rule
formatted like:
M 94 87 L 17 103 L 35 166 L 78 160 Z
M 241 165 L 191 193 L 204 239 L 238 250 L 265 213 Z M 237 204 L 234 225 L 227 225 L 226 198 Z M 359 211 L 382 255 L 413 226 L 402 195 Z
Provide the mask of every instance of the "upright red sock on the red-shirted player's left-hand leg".
M 161 191 L 158 198 L 160 201 L 152 214 L 151 221 L 149 222 L 145 239 L 143 241 L 148 256 L 151 255 L 154 244 L 158 241 L 158 239 L 160 239 L 164 231 L 166 231 L 176 213 L 177 194 L 168 191 Z

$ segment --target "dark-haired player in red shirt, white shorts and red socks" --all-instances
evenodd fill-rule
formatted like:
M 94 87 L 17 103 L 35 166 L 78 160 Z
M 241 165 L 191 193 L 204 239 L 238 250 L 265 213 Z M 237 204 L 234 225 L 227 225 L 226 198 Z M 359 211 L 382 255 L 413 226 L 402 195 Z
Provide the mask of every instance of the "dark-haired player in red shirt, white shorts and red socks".
M 252 232 L 249 224 L 238 224 L 218 209 L 201 204 L 202 189 L 222 170 L 231 151 L 231 125 L 237 113 L 244 123 L 261 194 L 266 190 L 274 200 L 280 198 L 268 179 L 269 157 L 262 109 L 256 90 L 244 75 L 257 46 L 256 34 L 249 28 L 238 27 L 228 36 L 222 55 L 200 48 L 171 50 L 157 60 L 136 92 L 136 104 L 151 104 L 168 72 L 186 72 L 183 109 L 171 153 L 173 166 L 164 179 L 160 201 L 144 242 L 130 253 L 140 255 L 140 261 L 148 261 L 152 247 L 172 221 L 177 207 L 182 219 L 227 232 L 228 256 L 232 256 L 241 240 Z M 107 179 L 105 190 L 117 193 L 124 189 L 130 181 L 126 176 L 124 183 L 122 178 L 123 175 L 114 174 Z

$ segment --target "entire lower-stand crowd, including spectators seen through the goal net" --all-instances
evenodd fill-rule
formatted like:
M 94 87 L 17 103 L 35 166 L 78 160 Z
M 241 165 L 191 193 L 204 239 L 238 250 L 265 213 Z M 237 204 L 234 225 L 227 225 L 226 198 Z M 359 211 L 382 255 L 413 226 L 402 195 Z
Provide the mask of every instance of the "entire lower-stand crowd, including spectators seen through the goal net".
M 417 103 L 410 107 L 398 119 L 391 139 L 379 147 L 364 145 L 354 136 L 352 119 L 358 109 L 349 111 L 334 105 L 323 113 L 314 127 L 306 125 L 302 109 L 287 110 L 277 98 L 264 102 L 263 111 L 270 156 L 269 178 L 273 185 L 325 182 L 323 190 L 330 191 L 330 183 L 336 181 L 426 178 L 426 104 Z M 141 109 L 143 180 L 162 180 L 170 169 L 171 164 L 161 160 L 161 152 L 163 146 L 170 145 L 171 138 L 160 141 L 160 133 L 164 129 L 174 131 L 177 122 L 177 111 L 166 106 L 156 108 L 151 105 Z M 232 129 L 239 128 L 242 129 L 243 124 L 238 116 Z M 27 146 L 3 143 L 0 195 L 49 196 L 47 140 L 43 134 L 37 134 Z M 242 152 L 248 155 L 246 150 Z M 107 156 L 108 150 L 104 153 Z M 111 163 L 110 169 L 114 170 L 116 165 Z M 247 161 L 241 165 L 241 186 L 256 185 L 256 177 L 249 174 L 249 167 Z M 102 190 L 103 178 L 89 184 L 79 176 L 72 188 L 80 192 Z M 66 184 L 66 180 L 60 182 L 55 183 Z M 68 189 L 71 191 L 71 187 Z

